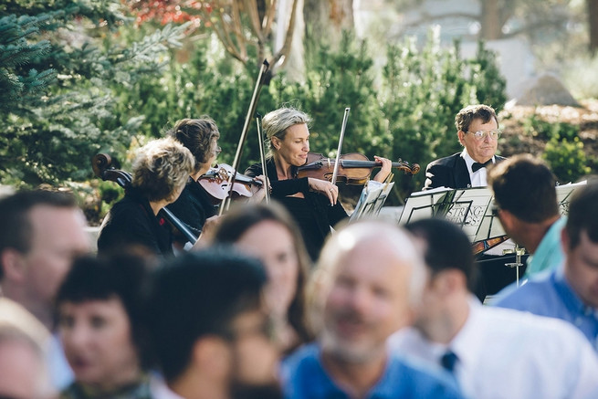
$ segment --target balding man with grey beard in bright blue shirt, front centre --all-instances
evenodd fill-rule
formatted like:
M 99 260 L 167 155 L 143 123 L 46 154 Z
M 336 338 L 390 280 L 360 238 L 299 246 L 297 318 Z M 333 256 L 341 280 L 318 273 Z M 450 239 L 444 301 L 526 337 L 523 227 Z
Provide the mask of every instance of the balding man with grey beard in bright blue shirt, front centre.
M 286 398 L 462 397 L 446 373 L 387 350 L 425 285 L 425 266 L 404 231 L 382 222 L 348 226 L 323 248 L 315 273 L 320 337 L 283 363 Z

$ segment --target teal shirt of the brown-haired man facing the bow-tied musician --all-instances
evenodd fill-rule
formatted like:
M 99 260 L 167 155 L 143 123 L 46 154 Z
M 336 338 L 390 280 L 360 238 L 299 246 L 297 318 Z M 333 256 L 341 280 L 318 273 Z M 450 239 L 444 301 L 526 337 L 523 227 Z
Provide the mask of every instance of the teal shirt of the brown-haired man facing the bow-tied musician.
M 561 230 L 567 223 L 567 217 L 561 216 L 554 222 L 551 228 L 540 241 L 540 246 L 530 257 L 528 257 L 528 267 L 525 269 L 525 277 L 540 273 L 544 270 L 553 270 L 561 265 L 565 254 L 561 247 Z

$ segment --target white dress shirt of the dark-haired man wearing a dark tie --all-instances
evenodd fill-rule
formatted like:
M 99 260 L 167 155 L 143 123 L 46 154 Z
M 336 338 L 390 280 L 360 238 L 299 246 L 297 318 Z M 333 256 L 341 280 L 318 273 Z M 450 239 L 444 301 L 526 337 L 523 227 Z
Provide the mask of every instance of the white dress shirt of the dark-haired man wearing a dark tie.
M 448 346 L 406 328 L 393 334 L 391 351 L 439 364 L 456 353 L 455 376 L 471 398 L 598 398 L 598 357 L 562 320 L 470 301 L 466 324 Z

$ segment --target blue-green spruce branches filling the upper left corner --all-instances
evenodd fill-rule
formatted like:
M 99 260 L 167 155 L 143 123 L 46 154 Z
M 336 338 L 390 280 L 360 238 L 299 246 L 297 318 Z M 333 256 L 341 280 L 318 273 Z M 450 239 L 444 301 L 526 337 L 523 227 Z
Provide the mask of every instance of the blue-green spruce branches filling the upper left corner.
M 124 152 L 142 124 L 140 113 L 115 117 L 115 93 L 157 77 L 186 26 L 122 43 L 114 35 L 127 20 L 119 1 L 4 7 L 14 14 L 0 18 L 0 181 L 85 180 L 96 152 Z

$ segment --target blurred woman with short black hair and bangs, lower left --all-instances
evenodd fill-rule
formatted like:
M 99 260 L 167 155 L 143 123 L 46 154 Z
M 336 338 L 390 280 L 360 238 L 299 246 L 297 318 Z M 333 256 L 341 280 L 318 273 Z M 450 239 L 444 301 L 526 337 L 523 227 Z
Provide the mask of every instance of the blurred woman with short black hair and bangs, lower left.
M 80 257 L 58 290 L 58 331 L 75 382 L 60 397 L 150 398 L 143 373 L 142 257 Z

